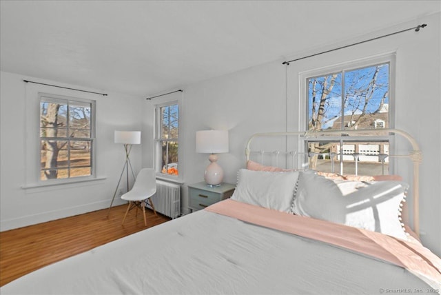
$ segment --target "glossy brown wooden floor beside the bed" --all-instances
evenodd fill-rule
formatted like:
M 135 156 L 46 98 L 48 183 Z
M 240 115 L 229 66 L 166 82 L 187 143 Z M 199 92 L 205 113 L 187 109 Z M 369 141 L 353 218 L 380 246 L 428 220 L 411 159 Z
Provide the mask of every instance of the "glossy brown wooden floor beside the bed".
M 123 236 L 169 221 L 146 210 L 131 210 L 121 225 L 127 205 L 0 232 L 0 286 L 45 265 L 91 250 Z M 138 211 L 138 216 L 136 212 Z

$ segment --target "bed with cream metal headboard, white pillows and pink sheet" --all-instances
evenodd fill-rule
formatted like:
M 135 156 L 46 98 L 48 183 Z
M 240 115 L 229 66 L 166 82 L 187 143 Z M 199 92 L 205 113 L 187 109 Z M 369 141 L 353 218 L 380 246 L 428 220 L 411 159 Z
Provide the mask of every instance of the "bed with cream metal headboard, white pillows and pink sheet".
M 413 230 L 400 220 L 406 195 L 418 208 L 418 145 L 387 132 L 411 143 L 411 185 L 263 165 L 249 158 L 256 137 L 311 134 L 255 134 L 231 199 L 43 267 L 0 294 L 441 294 L 441 259 L 418 241 L 418 212 Z

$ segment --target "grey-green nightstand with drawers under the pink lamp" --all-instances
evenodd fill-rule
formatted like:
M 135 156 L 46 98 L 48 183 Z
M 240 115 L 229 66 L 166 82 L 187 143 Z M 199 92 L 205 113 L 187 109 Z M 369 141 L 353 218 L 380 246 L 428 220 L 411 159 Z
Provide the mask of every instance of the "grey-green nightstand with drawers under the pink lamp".
M 235 187 L 236 185 L 229 183 L 210 187 L 205 181 L 188 185 L 189 209 L 201 210 L 218 201 L 228 199 L 232 196 Z

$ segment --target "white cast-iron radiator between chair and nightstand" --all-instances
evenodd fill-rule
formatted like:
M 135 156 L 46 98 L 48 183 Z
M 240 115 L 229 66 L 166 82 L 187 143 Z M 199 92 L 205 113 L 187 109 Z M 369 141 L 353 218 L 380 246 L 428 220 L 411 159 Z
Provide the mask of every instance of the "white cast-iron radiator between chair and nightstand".
M 156 212 L 171 218 L 181 215 L 181 185 L 156 180 L 156 194 L 151 198 Z M 148 202 L 146 207 L 152 209 Z

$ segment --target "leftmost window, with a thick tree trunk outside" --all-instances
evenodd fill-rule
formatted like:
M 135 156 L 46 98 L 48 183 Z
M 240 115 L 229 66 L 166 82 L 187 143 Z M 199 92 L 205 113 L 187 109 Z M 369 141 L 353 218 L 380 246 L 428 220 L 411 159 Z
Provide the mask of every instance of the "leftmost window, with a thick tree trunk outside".
M 41 181 L 92 176 L 94 102 L 40 95 Z

